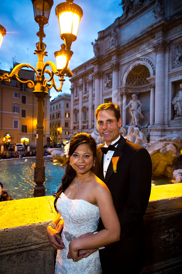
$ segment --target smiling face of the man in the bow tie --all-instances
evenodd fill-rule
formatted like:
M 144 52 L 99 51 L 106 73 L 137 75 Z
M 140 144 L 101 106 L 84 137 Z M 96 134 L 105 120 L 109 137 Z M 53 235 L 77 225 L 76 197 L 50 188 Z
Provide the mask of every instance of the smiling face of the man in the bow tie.
M 97 115 L 97 128 L 100 137 L 109 146 L 120 135 L 120 127 L 122 126 L 121 118 L 117 121 L 114 111 L 101 110 Z

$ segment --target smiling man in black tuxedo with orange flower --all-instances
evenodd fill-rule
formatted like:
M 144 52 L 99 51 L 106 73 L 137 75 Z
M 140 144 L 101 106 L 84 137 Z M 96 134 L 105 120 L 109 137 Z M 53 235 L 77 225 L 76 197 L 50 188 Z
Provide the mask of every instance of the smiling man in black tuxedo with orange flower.
M 98 163 L 93 172 L 109 188 L 121 225 L 120 241 L 99 250 L 103 274 L 138 274 L 144 265 L 143 215 L 150 197 L 152 162 L 145 148 L 119 134 L 122 126 L 119 106 L 101 104 L 95 115 L 105 144 L 97 148 Z M 98 230 L 102 229 L 100 220 Z M 91 252 L 83 253 L 86 257 Z

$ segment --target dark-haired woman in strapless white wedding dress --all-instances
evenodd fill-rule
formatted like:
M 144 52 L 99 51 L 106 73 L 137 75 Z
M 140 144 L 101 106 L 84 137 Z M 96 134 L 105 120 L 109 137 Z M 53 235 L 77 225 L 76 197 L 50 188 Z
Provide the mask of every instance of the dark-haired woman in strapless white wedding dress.
M 77 133 L 66 157 L 66 172 L 54 202 L 58 214 L 47 228 L 50 244 L 58 249 L 55 274 L 101 274 L 98 248 L 119 241 L 120 222 L 109 189 L 92 173 L 96 164 L 95 140 L 87 133 Z M 97 233 L 100 217 L 105 229 Z M 82 237 L 83 234 L 88 236 Z M 52 239 L 57 240 L 57 246 Z M 96 251 L 87 258 L 83 251 L 79 255 L 79 250 L 92 248 Z

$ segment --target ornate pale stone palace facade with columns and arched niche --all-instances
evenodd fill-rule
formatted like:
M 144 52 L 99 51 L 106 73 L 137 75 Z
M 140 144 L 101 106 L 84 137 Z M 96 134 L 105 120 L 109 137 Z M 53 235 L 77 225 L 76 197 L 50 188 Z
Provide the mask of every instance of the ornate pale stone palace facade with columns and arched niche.
M 73 70 L 71 128 L 92 132 L 99 104 L 120 105 L 123 126 L 131 124 L 126 105 L 141 102 L 140 125 L 150 141 L 182 134 L 182 4 L 178 0 L 123 0 L 123 15 L 98 33 L 94 57 Z M 181 92 L 182 93 L 182 92 Z M 178 100 L 179 101 L 179 100 Z

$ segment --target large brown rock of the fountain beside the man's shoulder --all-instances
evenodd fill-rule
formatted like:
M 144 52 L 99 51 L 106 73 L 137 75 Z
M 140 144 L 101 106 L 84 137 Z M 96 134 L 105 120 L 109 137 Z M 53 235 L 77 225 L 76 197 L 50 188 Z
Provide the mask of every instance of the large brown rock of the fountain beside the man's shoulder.
M 167 135 L 154 142 L 143 145 L 152 159 L 153 176 L 173 177 L 175 163 L 180 157 L 182 139 L 178 134 Z

